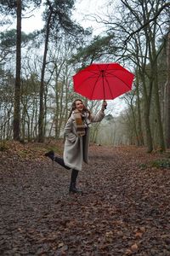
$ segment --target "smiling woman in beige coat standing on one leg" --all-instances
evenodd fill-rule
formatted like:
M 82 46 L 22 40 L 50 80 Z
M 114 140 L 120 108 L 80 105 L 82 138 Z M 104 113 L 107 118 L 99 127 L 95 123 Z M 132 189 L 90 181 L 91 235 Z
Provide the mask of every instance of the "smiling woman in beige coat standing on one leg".
M 72 170 L 70 192 L 82 192 L 77 189 L 76 181 L 78 172 L 82 171 L 82 161 L 88 164 L 89 125 L 92 122 L 99 122 L 105 117 L 106 106 L 107 103 L 104 101 L 99 113 L 94 115 L 84 106 L 82 100 L 75 100 L 72 103 L 71 113 L 65 125 L 63 158 L 54 156 L 53 150 L 45 154 L 65 169 Z

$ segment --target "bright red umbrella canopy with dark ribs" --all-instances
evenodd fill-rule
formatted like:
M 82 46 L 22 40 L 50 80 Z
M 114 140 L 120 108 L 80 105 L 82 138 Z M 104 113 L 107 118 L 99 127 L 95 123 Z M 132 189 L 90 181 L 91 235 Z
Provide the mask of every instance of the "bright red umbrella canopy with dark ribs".
M 118 63 L 94 63 L 73 76 L 74 90 L 89 100 L 111 100 L 132 90 L 133 78 Z

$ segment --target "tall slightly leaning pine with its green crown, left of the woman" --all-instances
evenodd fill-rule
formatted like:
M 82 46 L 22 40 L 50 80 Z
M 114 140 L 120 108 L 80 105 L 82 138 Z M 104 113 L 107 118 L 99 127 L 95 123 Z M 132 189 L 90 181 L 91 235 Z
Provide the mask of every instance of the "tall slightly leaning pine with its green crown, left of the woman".
M 39 119 L 38 119 L 38 142 L 43 142 L 44 140 L 44 76 L 45 68 L 47 66 L 47 54 L 48 54 L 48 43 L 49 37 L 59 39 L 59 31 L 64 31 L 70 34 L 77 35 L 77 32 L 83 34 L 84 30 L 81 26 L 77 26 L 75 22 L 71 20 L 71 10 L 74 7 L 74 2 L 71 0 L 65 1 L 50 1 L 46 0 L 46 9 L 44 11 L 44 19 L 47 20 L 44 27 L 45 34 L 45 45 L 42 61 L 42 75 L 41 75 L 41 85 L 40 85 L 40 108 L 39 108 Z

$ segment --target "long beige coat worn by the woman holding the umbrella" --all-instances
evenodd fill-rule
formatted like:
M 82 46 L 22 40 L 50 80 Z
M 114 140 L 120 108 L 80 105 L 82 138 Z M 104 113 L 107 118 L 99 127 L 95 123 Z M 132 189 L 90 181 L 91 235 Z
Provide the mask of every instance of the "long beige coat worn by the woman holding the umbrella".
M 96 115 L 91 114 L 90 122 L 99 122 L 105 117 L 103 111 L 99 111 Z M 68 119 L 65 125 L 65 148 L 64 148 L 64 162 L 65 166 L 71 167 L 82 171 L 82 161 L 88 164 L 88 145 L 89 145 L 89 126 L 87 128 L 86 135 L 84 137 L 77 136 L 76 120 L 74 114 Z

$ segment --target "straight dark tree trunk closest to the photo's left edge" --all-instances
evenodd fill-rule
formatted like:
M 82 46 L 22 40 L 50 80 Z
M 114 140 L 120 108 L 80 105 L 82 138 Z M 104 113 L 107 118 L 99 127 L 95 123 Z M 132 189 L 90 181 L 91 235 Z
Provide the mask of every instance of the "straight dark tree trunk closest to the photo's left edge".
M 16 78 L 14 86 L 14 140 L 20 141 L 21 0 L 17 4 Z

